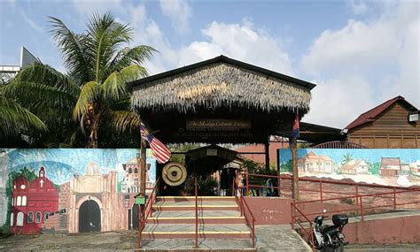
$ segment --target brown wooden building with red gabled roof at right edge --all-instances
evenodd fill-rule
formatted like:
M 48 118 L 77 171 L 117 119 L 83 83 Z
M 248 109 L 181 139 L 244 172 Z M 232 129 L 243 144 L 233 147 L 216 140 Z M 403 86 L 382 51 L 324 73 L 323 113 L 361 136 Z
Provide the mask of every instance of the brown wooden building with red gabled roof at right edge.
M 369 149 L 420 148 L 420 121 L 410 121 L 410 114 L 418 115 L 418 109 L 397 96 L 362 113 L 346 126 L 347 141 Z

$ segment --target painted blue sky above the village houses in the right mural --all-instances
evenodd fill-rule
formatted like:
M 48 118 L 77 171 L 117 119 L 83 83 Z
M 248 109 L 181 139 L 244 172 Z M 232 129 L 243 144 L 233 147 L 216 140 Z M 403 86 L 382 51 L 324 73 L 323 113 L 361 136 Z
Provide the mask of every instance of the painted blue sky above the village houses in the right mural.
M 292 159 L 290 149 L 278 149 L 279 164 L 284 164 Z M 331 157 L 338 163 L 343 160 L 343 156 L 350 153 L 354 159 L 362 159 L 369 163 L 381 162 L 381 157 L 400 157 L 402 163 L 414 163 L 420 160 L 420 149 L 298 149 L 298 158 L 313 151 L 319 156 Z

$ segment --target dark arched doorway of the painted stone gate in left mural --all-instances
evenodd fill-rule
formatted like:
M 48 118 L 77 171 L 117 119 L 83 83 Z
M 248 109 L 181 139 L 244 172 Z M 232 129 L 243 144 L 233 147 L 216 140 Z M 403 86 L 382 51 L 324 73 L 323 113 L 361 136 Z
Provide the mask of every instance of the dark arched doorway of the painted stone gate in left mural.
M 99 231 L 101 231 L 101 210 L 97 202 L 83 202 L 79 209 L 79 233 Z

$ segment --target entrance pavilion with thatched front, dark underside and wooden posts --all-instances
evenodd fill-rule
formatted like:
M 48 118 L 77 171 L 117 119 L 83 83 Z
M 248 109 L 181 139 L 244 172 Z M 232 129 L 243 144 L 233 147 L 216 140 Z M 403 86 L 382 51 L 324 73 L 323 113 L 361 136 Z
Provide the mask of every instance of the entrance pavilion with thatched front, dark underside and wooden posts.
M 300 119 L 309 111 L 312 88 L 305 80 L 224 56 L 128 83 L 133 110 L 163 143 L 265 146 L 270 135 L 290 134 L 296 114 Z

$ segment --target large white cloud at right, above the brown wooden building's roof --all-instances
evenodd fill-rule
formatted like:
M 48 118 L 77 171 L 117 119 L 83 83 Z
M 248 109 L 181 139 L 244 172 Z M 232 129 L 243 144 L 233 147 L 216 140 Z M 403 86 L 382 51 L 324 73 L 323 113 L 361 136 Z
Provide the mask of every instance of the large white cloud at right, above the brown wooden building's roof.
M 397 95 L 420 105 L 418 32 L 418 4 L 401 2 L 385 4 L 377 19 L 349 20 L 320 34 L 301 61 L 302 71 L 319 81 L 307 118 L 344 127 Z

